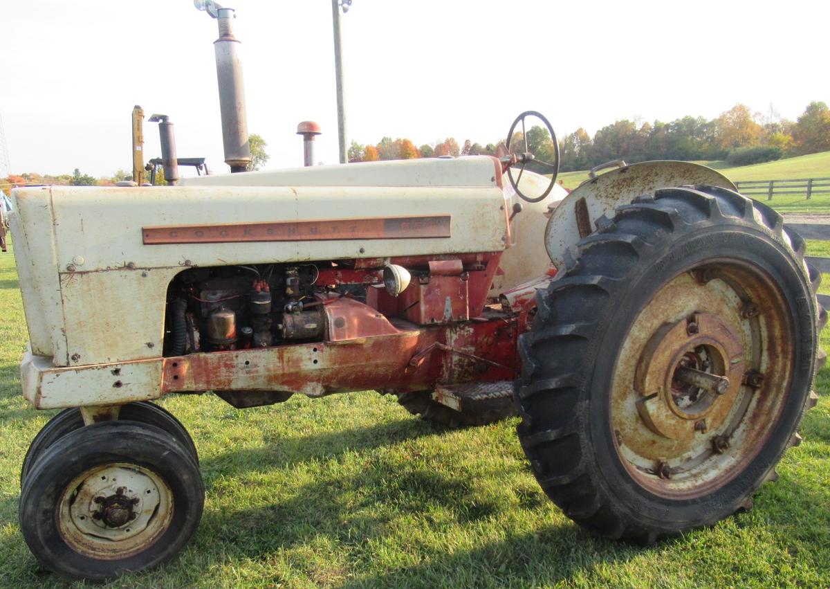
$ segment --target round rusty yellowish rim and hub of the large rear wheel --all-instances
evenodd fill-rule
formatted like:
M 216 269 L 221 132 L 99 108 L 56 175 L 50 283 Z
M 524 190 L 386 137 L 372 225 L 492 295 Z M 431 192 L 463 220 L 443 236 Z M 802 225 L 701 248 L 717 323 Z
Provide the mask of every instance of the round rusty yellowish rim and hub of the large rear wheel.
M 754 457 L 793 365 L 786 308 L 769 277 L 737 261 L 684 272 L 642 308 L 614 366 L 610 415 L 639 483 L 693 497 Z

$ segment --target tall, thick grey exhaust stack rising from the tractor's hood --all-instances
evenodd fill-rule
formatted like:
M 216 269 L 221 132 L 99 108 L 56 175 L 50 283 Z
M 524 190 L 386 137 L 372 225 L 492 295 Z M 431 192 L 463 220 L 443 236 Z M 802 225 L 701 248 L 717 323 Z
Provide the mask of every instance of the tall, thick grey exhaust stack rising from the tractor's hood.
M 225 163 L 231 172 L 244 172 L 251 163 L 248 145 L 248 121 L 245 110 L 245 85 L 242 81 L 241 43 L 233 36 L 233 8 L 212 0 L 193 0 L 198 10 L 206 11 L 219 24 L 219 38 L 213 42 L 216 52 L 216 77 L 219 84 L 219 109 L 222 112 L 222 144 Z

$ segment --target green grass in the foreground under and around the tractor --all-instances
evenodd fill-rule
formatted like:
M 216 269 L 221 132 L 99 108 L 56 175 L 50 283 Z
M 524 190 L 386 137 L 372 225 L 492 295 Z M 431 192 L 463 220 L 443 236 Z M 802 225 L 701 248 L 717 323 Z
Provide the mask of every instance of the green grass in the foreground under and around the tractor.
M 20 396 L 27 334 L 11 253 L 0 287 L 0 587 L 66 587 L 17 523 L 23 454 L 55 412 Z M 515 420 L 433 429 L 372 392 L 254 410 L 170 397 L 162 405 L 201 455 L 202 525 L 176 560 L 110 587 L 827 586 L 828 390 L 825 369 L 805 441 L 751 512 L 645 548 L 590 537 L 550 503 Z

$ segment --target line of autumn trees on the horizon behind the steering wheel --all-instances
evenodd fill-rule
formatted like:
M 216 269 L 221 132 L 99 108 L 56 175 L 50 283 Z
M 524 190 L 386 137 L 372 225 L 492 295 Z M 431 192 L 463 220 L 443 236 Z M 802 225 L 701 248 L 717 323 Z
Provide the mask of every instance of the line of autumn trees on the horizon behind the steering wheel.
M 527 131 L 528 147 L 537 159 L 554 160 L 554 145 L 548 130 L 535 125 Z M 446 140 L 416 147 L 412 140 L 383 137 L 376 145 L 352 141 L 349 161 L 411 160 L 442 155 L 495 155 L 504 140 L 481 145 L 466 140 Z M 516 132 L 513 145 L 524 147 Z M 738 104 L 715 119 L 684 116 L 664 123 L 617 120 L 594 133 L 582 127 L 559 139 L 563 171 L 588 169 L 609 160 L 634 163 L 645 160 L 727 160 L 746 165 L 782 157 L 830 150 L 830 109 L 821 101 L 811 102 L 797 120 L 782 119 L 773 110 L 768 115 Z

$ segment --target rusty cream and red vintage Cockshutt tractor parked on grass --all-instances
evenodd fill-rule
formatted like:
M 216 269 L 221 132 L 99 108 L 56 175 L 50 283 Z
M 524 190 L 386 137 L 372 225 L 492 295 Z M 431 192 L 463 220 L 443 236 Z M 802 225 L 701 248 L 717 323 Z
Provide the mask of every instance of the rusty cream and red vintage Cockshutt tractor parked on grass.
M 15 190 L 23 395 L 64 408 L 22 465 L 35 556 L 103 580 L 184 547 L 204 487 L 149 402 L 172 393 L 374 389 L 449 426 L 517 412 L 545 493 L 603 537 L 749 508 L 816 401 L 827 314 L 803 239 L 696 164 L 620 163 L 563 198 L 558 162 L 513 140 L 531 115 L 500 157 Z

